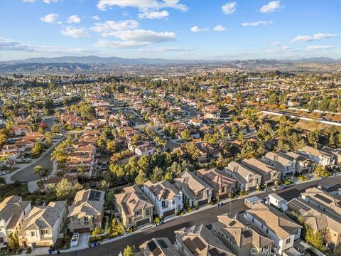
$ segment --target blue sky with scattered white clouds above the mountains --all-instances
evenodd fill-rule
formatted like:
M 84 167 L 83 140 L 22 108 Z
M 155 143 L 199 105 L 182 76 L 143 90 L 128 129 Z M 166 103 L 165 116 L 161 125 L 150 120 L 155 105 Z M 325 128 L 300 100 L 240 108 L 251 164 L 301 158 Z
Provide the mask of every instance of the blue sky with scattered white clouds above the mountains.
M 340 0 L 1 0 L 0 60 L 341 58 Z

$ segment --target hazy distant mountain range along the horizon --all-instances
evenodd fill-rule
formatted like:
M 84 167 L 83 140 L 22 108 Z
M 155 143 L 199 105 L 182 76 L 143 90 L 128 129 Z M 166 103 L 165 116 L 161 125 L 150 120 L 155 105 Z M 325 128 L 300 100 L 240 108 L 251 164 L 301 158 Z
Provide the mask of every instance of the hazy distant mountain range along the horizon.
M 166 67 L 188 67 L 212 70 L 217 68 L 242 68 L 244 70 L 254 69 L 291 69 L 301 67 L 301 63 L 317 63 L 317 65 L 338 65 L 341 58 L 332 59 L 326 57 L 301 58 L 297 60 L 168 60 L 162 58 L 119 58 L 119 57 L 98 57 L 95 55 L 74 57 L 63 56 L 56 58 L 28 58 L 26 60 L 9 60 L 0 62 L 0 73 L 74 73 L 92 72 L 101 73 L 111 71 L 127 70 L 155 70 L 163 69 L 171 72 Z M 143 69 L 142 67 L 145 67 Z M 163 67 L 163 68 L 161 68 Z M 168 70 L 167 70 L 168 69 Z M 176 70 L 176 71 L 178 71 Z M 182 71 L 184 71 L 182 69 Z

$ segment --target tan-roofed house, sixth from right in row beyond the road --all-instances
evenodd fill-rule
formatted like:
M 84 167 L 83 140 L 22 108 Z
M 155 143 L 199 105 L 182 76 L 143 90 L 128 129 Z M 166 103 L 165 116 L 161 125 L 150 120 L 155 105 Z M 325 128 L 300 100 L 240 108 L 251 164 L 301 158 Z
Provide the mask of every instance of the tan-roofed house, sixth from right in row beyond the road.
M 261 186 L 261 175 L 236 161 L 229 162 L 224 171 L 237 181 L 239 191 L 254 191 Z

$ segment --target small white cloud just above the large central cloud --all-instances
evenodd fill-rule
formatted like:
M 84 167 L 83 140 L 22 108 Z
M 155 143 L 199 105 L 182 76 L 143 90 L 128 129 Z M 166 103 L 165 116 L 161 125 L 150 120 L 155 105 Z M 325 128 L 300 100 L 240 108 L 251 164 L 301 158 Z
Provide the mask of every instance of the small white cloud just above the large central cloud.
M 105 21 L 103 23 L 94 23 L 90 29 L 97 33 L 102 33 L 102 36 L 107 36 L 107 33 L 113 31 L 124 31 L 128 29 L 134 29 L 139 26 L 139 22 L 134 20 L 124 21 Z

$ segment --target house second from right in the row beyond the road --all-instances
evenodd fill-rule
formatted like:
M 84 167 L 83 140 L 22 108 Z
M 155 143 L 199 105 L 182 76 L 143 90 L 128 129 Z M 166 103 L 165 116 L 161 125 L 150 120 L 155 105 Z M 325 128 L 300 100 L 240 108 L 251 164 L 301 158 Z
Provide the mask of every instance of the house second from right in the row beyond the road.
M 316 164 L 322 165 L 324 168 L 335 164 L 334 154 L 323 149 L 314 149 L 311 146 L 304 146 L 303 149 L 298 150 L 308 159 L 315 161 Z

